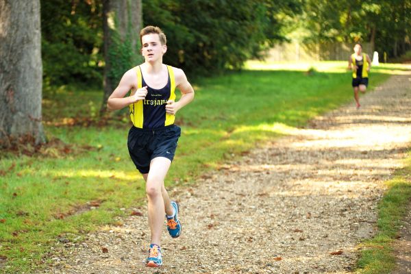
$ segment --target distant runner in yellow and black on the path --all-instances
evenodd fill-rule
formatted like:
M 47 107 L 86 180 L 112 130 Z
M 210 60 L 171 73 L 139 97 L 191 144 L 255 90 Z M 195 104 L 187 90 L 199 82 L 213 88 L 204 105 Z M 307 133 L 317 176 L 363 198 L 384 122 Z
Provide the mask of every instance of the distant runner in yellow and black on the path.
M 368 86 L 368 73 L 371 69 L 371 59 L 368 54 L 362 53 L 362 45 L 360 43 L 356 43 L 354 53 L 348 58 L 348 69 L 353 71 L 352 86 L 358 109 L 361 106 L 358 90 L 365 93 Z

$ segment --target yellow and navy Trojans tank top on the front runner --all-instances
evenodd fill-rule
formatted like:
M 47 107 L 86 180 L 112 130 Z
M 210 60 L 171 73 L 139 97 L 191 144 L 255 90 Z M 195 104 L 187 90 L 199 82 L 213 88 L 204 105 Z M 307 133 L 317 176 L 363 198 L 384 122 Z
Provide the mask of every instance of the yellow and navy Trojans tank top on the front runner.
M 134 68 L 137 74 L 137 88 L 147 86 L 147 96 L 144 100 L 129 105 L 130 119 L 134 127 L 151 129 L 173 125 L 175 115 L 166 113 L 166 102 L 175 100 L 175 78 L 171 66 L 167 66 L 169 80 L 160 89 L 149 87 L 142 77 L 140 66 Z

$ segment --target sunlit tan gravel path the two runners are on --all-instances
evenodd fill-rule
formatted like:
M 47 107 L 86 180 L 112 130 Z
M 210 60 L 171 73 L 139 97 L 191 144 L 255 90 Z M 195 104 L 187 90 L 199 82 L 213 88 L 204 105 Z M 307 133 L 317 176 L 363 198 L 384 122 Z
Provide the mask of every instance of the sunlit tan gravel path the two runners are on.
M 352 102 L 172 189 L 183 233 L 171 239 L 164 227 L 161 269 L 144 266 L 138 208 L 142 216 L 53 247 L 45 273 L 351 273 L 356 245 L 375 232 L 382 182 L 411 140 L 410 81 L 395 75 L 360 110 Z

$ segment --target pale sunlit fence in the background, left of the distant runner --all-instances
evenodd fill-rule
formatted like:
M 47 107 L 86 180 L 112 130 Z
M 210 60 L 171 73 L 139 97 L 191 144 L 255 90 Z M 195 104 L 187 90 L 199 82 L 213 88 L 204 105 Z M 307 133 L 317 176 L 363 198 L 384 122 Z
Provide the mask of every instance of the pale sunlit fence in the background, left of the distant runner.
M 271 62 L 345 61 L 353 53 L 353 46 L 354 44 L 345 43 L 283 43 L 270 49 L 266 60 Z M 371 44 L 368 42 L 362 43 L 362 52 L 368 53 L 372 58 Z

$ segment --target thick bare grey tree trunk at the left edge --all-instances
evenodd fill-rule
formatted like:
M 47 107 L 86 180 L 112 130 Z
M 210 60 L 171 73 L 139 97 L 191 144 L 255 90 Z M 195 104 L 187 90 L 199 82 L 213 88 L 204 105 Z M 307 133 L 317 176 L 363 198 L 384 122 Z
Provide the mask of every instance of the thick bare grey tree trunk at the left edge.
M 0 141 L 34 137 L 41 123 L 40 0 L 0 0 Z

